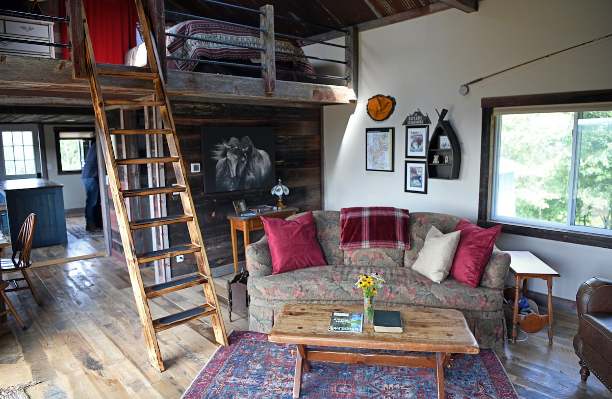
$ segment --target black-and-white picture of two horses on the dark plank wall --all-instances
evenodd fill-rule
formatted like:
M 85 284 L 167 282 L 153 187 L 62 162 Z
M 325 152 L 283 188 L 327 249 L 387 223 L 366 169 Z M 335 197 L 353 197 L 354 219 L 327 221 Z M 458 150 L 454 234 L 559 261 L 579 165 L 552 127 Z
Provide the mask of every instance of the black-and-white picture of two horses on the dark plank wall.
M 204 192 L 271 187 L 275 183 L 272 127 L 202 127 Z

